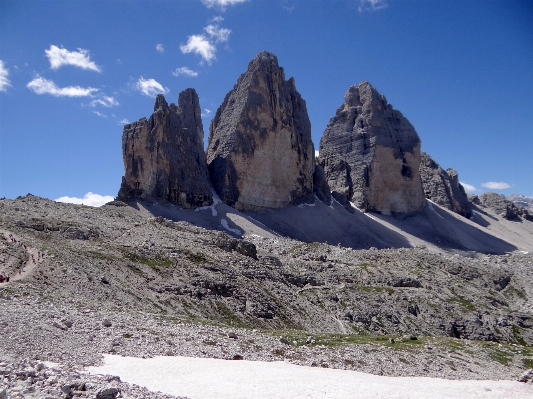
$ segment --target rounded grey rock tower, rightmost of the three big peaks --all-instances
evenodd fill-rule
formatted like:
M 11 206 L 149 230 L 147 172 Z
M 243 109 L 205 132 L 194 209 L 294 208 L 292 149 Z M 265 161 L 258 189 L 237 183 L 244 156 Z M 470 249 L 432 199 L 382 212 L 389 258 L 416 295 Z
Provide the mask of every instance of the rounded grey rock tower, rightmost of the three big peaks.
M 420 139 L 409 121 L 368 82 L 348 89 L 320 140 L 333 197 L 348 209 L 408 214 L 426 206 Z

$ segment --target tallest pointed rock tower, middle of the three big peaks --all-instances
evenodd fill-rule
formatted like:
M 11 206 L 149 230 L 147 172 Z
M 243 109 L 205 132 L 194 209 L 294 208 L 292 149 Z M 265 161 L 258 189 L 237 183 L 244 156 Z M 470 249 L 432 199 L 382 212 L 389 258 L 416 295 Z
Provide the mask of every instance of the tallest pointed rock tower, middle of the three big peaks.
M 259 53 L 226 95 L 209 128 L 207 162 L 220 199 L 236 209 L 313 200 L 307 108 L 275 55 Z

